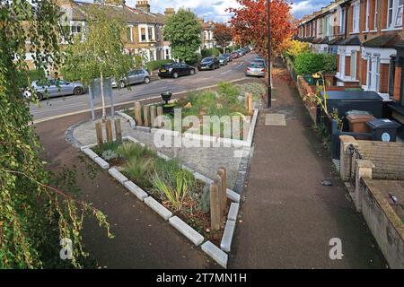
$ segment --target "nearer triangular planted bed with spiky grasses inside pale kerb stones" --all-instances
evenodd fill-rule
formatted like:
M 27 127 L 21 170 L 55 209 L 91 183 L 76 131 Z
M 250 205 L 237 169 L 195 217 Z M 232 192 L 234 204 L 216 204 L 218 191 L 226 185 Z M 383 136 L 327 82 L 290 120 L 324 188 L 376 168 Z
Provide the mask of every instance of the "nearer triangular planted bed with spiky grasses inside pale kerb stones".
M 220 244 L 223 229 L 211 230 L 209 186 L 184 170 L 180 161 L 162 159 L 147 146 L 127 140 L 102 143 L 92 151 L 206 239 Z

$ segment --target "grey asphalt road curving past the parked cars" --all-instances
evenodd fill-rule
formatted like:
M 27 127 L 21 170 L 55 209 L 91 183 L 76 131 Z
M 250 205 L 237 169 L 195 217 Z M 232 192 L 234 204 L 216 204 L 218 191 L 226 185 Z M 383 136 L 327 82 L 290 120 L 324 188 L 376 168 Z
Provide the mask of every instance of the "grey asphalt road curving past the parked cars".
M 233 81 L 245 78 L 245 69 L 250 61 L 256 57 L 250 53 L 233 60 L 228 65 L 215 71 L 202 71 L 195 75 L 183 76 L 178 79 L 154 79 L 151 83 L 135 84 L 125 89 L 114 89 L 115 104 L 147 99 L 160 95 L 163 91 L 172 93 L 183 92 L 215 85 L 221 81 Z M 109 100 L 107 100 L 109 104 Z M 95 100 L 95 109 L 101 107 L 101 99 Z M 88 93 L 79 96 L 52 98 L 40 102 L 40 106 L 31 105 L 31 114 L 35 121 L 52 119 L 63 115 L 71 115 L 90 109 Z

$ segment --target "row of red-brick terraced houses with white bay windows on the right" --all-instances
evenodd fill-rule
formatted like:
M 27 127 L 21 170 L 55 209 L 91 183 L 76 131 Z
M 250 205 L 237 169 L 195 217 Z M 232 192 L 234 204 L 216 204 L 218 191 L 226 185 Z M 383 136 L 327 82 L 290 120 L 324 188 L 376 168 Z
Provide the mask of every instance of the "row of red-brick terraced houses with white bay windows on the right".
M 393 117 L 404 123 L 402 0 L 332 2 L 303 17 L 297 38 L 314 51 L 337 54 L 336 84 L 393 100 Z

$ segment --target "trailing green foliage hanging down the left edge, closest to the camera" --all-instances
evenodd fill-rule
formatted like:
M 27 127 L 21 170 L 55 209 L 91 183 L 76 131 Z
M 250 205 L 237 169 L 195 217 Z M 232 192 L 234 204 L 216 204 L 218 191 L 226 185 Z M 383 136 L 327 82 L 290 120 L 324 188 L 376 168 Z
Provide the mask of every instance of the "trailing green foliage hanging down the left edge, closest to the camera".
M 63 29 L 53 1 L 31 3 L 0 2 L 0 269 L 80 267 L 86 256 L 84 215 L 93 214 L 108 234 L 109 224 L 100 211 L 76 199 L 75 171 L 52 174 L 40 159 L 30 113 L 37 100 L 26 99 L 20 89 L 31 81 L 25 53 L 33 54 L 39 70 L 57 71 Z M 73 257 L 62 262 L 59 243 L 65 238 L 72 240 Z

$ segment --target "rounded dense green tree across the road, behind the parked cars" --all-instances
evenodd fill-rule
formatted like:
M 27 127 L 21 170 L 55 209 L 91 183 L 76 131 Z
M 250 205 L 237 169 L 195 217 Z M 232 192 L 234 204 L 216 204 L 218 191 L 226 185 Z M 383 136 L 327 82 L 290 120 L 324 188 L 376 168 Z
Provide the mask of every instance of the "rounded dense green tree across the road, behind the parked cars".
M 172 15 L 163 28 L 164 38 L 171 42 L 172 57 L 186 62 L 194 60 L 202 44 L 202 30 L 195 13 L 180 9 Z

